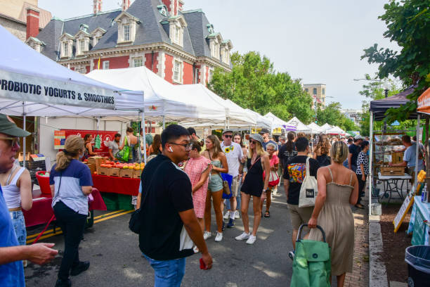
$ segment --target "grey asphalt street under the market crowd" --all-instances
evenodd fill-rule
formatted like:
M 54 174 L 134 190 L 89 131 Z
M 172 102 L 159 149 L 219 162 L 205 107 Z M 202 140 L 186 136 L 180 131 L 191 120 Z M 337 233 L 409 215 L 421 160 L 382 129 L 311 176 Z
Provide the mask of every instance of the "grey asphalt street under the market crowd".
M 250 204 L 252 210 L 252 203 Z M 265 210 L 265 208 L 263 209 Z M 108 212 L 96 212 L 96 216 Z M 252 213 L 252 211 L 250 211 Z M 128 229 L 130 215 L 119 215 L 97 222 L 84 234 L 79 247 L 80 260 L 89 260 L 90 268 L 79 276 L 72 276 L 72 286 L 153 286 L 152 268 L 141 255 L 138 236 Z M 250 217 L 251 226 L 254 217 Z M 212 229 L 216 230 L 212 216 Z M 29 236 L 39 229 L 29 231 Z M 254 245 L 235 241 L 243 231 L 242 219 L 226 229 L 221 243 L 207 240 L 214 258 L 211 270 L 200 269 L 199 253 L 187 258 L 182 286 L 289 286 L 292 261 L 287 253 L 292 250 L 292 228 L 289 222 L 285 193 L 282 187 L 273 198 L 271 217 L 262 218 Z M 56 243 L 59 255 L 50 264 L 29 264 L 25 269 L 27 286 L 54 286 L 60 266 L 64 241 L 62 235 L 44 238 L 39 242 Z

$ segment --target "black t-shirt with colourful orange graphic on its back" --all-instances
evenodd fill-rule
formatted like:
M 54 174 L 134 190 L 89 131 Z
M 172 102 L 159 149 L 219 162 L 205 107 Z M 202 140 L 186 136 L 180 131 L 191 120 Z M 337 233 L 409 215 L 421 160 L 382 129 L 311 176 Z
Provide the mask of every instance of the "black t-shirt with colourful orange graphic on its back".
M 284 178 L 289 180 L 287 203 L 299 205 L 301 183 L 306 177 L 306 155 L 297 155 L 287 162 L 284 170 Z M 309 159 L 309 171 L 311 176 L 316 177 L 320 164 L 313 158 Z

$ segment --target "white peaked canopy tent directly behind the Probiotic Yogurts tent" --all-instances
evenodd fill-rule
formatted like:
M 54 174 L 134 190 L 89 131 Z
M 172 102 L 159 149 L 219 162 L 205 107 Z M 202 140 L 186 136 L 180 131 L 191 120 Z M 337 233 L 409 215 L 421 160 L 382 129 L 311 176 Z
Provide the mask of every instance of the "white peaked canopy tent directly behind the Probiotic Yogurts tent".
M 145 106 L 147 120 L 172 122 L 216 122 L 226 118 L 226 110 L 219 103 L 197 89 L 185 91 L 145 67 L 93 70 L 86 75 L 100 82 L 115 84 L 122 89 L 141 90 L 145 103 L 135 102 L 136 107 Z

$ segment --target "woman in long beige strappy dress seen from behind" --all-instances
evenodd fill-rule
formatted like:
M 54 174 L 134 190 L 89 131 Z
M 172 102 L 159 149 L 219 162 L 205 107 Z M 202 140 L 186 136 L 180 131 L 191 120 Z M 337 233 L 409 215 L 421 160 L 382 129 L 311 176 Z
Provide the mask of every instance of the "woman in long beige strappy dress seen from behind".
M 322 241 L 321 231 L 315 227 L 323 227 L 332 248 L 332 275 L 337 276 L 337 286 L 344 286 L 345 274 L 353 267 L 354 217 L 350 205 L 358 200 L 358 180 L 355 172 L 342 165 L 348 157 L 343 141 L 334 142 L 330 155 L 332 165 L 318 170 L 318 196 L 308 222 L 309 239 Z

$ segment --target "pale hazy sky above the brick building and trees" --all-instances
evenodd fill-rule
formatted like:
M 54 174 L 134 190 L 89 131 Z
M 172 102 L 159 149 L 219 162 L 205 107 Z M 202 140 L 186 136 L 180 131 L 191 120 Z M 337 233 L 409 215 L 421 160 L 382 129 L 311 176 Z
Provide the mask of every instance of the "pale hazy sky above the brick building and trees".
M 184 0 L 184 10 L 202 8 L 216 32 L 240 53 L 259 51 L 275 69 L 304 84 L 326 84 L 327 102 L 361 108 L 358 94 L 365 73 L 376 65 L 360 60 L 363 49 L 378 43 L 398 50 L 384 39 L 386 25 L 378 19 L 388 0 Z M 121 0 L 103 0 L 103 11 L 120 8 Z M 93 0 L 39 0 L 59 18 L 90 14 Z M 143 19 L 144 20 L 144 19 Z

